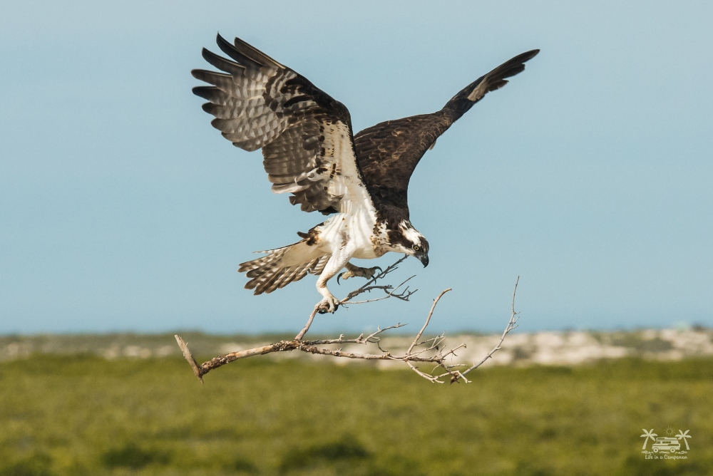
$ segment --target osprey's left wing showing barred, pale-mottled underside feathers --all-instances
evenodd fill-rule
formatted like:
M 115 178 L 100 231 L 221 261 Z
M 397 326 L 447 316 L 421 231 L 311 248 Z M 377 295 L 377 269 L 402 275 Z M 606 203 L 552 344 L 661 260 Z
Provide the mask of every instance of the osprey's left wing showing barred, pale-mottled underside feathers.
M 292 193 L 305 212 L 339 210 L 361 185 L 349 110 L 239 38 L 218 35 L 217 45 L 232 60 L 205 48 L 202 56 L 225 73 L 191 71 L 212 85 L 193 93 L 210 101 L 203 110 L 215 115 L 213 127 L 241 149 L 262 148 L 272 192 Z

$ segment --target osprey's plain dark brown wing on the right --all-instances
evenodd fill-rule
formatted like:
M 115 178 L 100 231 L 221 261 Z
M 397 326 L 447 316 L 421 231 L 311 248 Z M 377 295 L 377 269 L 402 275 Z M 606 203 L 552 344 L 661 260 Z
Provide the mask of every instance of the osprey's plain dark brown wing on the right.
M 408 213 L 407 191 L 426 150 L 488 91 L 505 86 L 506 78 L 525 69 L 525 61 L 540 50 L 522 53 L 473 81 L 433 114 L 388 120 L 354 136 L 356 157 L 374 204 L 397 207 Z

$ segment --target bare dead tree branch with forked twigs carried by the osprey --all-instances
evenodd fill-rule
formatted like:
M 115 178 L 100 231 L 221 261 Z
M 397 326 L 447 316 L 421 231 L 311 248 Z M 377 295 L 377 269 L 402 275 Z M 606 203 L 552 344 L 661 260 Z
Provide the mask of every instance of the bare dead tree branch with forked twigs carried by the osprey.
M 396 297 L 398 299 L 402 299 L 404 301 L 408 301 L 408 297 L 411 296 L 416 291 L 408 291 L 408 289 L 405 289 L 404 291 L 401 291 L 399 294 L 395 294 L 395 291 L 399 289 L 401 286 L 403 286 L 406 281 L 409 281 L 409 279 L 406 279 L 403 283 L 401 283 L 399 286 L 396 286 L 396 288 L 392 286 L 375 286 L 374 283 L 376 282 L 376 279 L 381 279 L 386 274 L 389 274 L 391 271 L 394 271 L 396 267 L 398 267 L 398 264 L 404 261 L 406 257 L 399 259 L 397 262 L 394 264 L 391 264 L 391 266 L 387 267 L 384 271 L 381 271 L 378 275 L 374 276 L 372 279 L 367 281 L 364 286 L 361 286 L 359 289 L 356 289 L 352 292 L 350 292 L 345 299 L 343 299 L 341 304 L 361 304 L 365 302 L 371 302 L 371 301 L 378 301 L 381 299 L 387 299 L 389 297 Z M 411 276 L 413 277 L 413 276 Z M 520 280 L 518 276 L 518 281 Z M 363 294 L 366 292 L 369 292 L 374 289 L 381 289 L 386 293 L 386 296 L 381 296 L 378 299 L 373 299 L 373 300 L 368 300 L 368 301 L 351 301 L 351 299 L 354 299 L 355 296 L 359 296 L 359 294 Z M 445 289 L 441 291 L 441 294 L 438 294 L 438 297 L 434 299 L 434 304 L 431 306 L 431 310 L 429 311 L 428 316 L 426 316 L 426 321 L 424 322 L 424 325 L 421 326 L 421 330 L 419 333 L 416 334 L 416 337 L 414 340 L 411 342 L 411 345 L 409 346 L 408 350 L 406 350 L 405 353 L 399 354 L 399 353 L 391 353 L 391 351 L 386 351 L 383 348 L 381 348 L 381 334 L 389 331 L 394 328 L 400 328 L 405 326 L 406 324 L 396 324 L 394 326 L 389 326 L 385 328 L 377 328 L 376 331 L 373 333 L 370 333 L 367 336 L 364 336 L 362 333 L 359 335 L 359 337 L 356 338 L 344 338 L 344 335 L 339 336 L 339 338 L 336 339 L 318 339 L 318 340 L 312 340 L 312 341 L 305 341 L 303 340 L 304 335 L 307 333 L 309 330 L 309 326 L 312 325 L 312 322 L 314 321 L 314 317 L 317 315 L 317 312 L 319 311 L 319 305 L 315 306 L 314 309 L 312 310 L 312 313 L 309 315 L 309 319 L 307 321 L 307 324 L 305 324 L 304 328 L 302 328 L 302 331 L 300 331 L 297 336 L 295 336 L 294 339 L 291 341 L 279 341 L 276 343 L 271 343 L 270 345 L 267 346 L 261 346 L 261 347 L 256 347 L 256 348 L 250 348 L 244 351 L 237 351 L 237 352 L 231 352 L 227 353 L 224 356 L 217 356 L 215 358 L 210 359 L 210 361 L 206 361 L 204 363 L 198 364 L 198 362 L 195 361 L 195 358 L 193 358 L 193 355 L 191 355 L 190 350 L 188 348 L 188 344 L 183 341 L 183 338 L 180 336 L 176 335 L 176 341 L 178 342 L 178 346 L 180 347 L 181 351 L 183 352 L 183 356 L 185 359 L 188 361 L 190 367 L 193 369 L 193 373 L 195 376 L 200 380 L 201 382 L 203 381 L 203 376 L 205 376 L 206 373 L 212 371 L 214 368 L 218 368 L 220 366 L 224 366 L 226 363 L 230 363 L 233 361 L 240 360 L 242 358 L 248 358 L 252 356 L 260 356 L 260 355 L 265 355 L 268 353 L 275 353 L 275 352 L 287 352 L 287 351 L 302 351 L 305 353 L 312 353 L 315 355 L 322 355 L 322 356 L 331 356 L 331 357 L 342 357 L 342 358 L 353 358 L 353 359 L 361 359 L 361 360 L 366 360 L 366 361 L 373 361 L 373 360 L 380 360 L 380 361 L 402 361 L 406 363 L 409 368 L 411 368 L 412 371 L 414 371 L 417 375 L 426 378 L 426 380 L 431 381 L 433 383 L 446 383 L 446 381 L 449 381 L 451 383 L 453 382 L 458 382 L 463 380 L 464 382 L 468 382 L 468 379 L 466 379 L 466 374 L 470 371 L 475 370 L 479 366 L 481 366 L 485 361 L 488 360 L 488 358 L 491 358 L 493 356 L 493 353 L 498 351 L 502 344 L 503 341 L 505 340 L 505 337 L 508 335 L 510 331 L 512 331 L 514 328 L 517 327 L 517 321 L 518 321 L 518 313 L 515 313 L 515 292 L 518 289 L 518 283 L 515 282 L 515 291 L 513 291 L 513 305 L 512 305 L 512 314 L 511 314 L 511 319 L 508 322 L 508 326 L 506 327 L 505 331 L 503 332 L 503 335 L 501 336 L 500 341 L 498 342 L 498 345 L 493 348 L 488 354 L 483 358 L 482 361 L 480 361 L 477 364 L 474 364 L 473 366 L 470 366 L 467 370 L 465 371 L 460 371 L 458 368 L 462 368 L 467 366 L 467 364 L 461 364 L 461 363 L 450 363 L 450 361 L 453 360 L 453 358 L 456 357 L 456 351 L 460 348 L 464 348 L 466 344 L 461 343 L 461 345 L 456 346 L 454 348 L 451 348 L 450 350 L 446 351 L 445 346 L 443 346 L 443 342 L 445 341 L 446 337 L 441 334 L 436 337 L 432 338 L 427 338 L 425 341 L 420 341 L 421 336 L 423 336 L 424 332 L 426 331 L 426 328 L 429 326 L 431 322 L 431 316 L 433 316 L 434 311 L 436 310 L 436 305 L 438 304 L 438 301 L 441 300 L 441 297 L 443 297 L 444 294 L 446 294 L 448 291 L 451 291 L 451 289 Z M 325 348 L 324 346 L 332 346 L 332 345 L 339 345 L 339 344 L 360 344 L 360 345 L 369 345 L 369 344 L 374 344 L 376 348 L 379 349 L 380 353 L 355 353 L 355 352 L 347 352 L 343 351 L 342 348 Z M 429 364 L 434 364 L 433 368 L 431 371 L 422 371 L 419 368 L 420 363 L 429 363 Z M 414 365 L 416 364 L 416 365 Z

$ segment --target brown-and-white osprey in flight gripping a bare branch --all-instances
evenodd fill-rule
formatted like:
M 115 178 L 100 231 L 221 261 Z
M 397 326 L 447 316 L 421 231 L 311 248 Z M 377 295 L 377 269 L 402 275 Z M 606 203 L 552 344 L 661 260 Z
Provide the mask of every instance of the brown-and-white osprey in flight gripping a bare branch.
M 327 281 L 344 267 L 345 279 L 374 276 L 376 267 L 356 267 L 349 259 L 397 252 L 428 266 L 429 242 L 409 219 L 411 174 L 438 136 L 539 52 L 506 61 L 436 113 L 388 120 L 354 135 L 347 107 L 304 76 L 239 38 L 230 43 L 219 34 L 217 46 L 231 59 L 205 48 L 202 56 L 222 73 L 191 71 L 211 85 L 193 88 L 193 93 L 209 101 L 202 107 L 215 116 L 213 127 L 243 150 L 262 148 L 272 192 L 292 194 L 289 201 L 304 212 L 332 215 L 309 232 L 298 232 L 299 242 L 240 264 L 239 271 L 250 278 L 245 287 L 270 293 L 307 273 L 317 274 L 322 312 L 339 306 Z

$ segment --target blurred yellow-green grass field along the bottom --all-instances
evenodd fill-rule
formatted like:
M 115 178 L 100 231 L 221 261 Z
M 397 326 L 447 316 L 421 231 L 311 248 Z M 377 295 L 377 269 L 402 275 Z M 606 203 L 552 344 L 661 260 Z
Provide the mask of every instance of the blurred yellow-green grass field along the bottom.
M 713 360 L 490 367 L 470 384 L 252 358 L 0 367 L 0 475 L 713 474 Z M 642 428 L 690 430 L 644 460 Z M 649 444 L 650 447 L 650 444 Z

